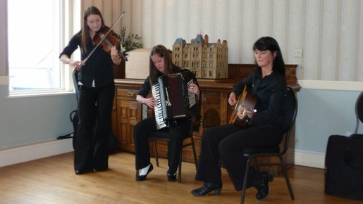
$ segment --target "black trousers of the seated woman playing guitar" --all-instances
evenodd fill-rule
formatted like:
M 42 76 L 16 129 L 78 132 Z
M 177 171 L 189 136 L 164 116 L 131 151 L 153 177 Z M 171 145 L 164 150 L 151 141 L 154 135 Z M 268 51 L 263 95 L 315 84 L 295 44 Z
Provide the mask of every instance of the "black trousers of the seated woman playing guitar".
M 198 181 L 222 183 L 219 160 L 230 176 L 237 191 L 242 191 L 247 159 L 242 148 L 274 146 L 283 139 L 283 129 L 278 127 L 249 127 L 242 129 L 235 125 L 221 125 L 204 131 L 197 170 Z M 261 177 L 261 172 L 250 167 L 247 187 Z

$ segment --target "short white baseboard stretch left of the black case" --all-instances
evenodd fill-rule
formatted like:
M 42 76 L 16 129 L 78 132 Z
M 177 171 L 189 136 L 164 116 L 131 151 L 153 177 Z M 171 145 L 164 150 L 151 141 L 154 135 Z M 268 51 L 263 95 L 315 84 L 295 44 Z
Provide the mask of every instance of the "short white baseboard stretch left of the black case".
M 295 165 L 325 168 L 325 153 L 295 150 Z

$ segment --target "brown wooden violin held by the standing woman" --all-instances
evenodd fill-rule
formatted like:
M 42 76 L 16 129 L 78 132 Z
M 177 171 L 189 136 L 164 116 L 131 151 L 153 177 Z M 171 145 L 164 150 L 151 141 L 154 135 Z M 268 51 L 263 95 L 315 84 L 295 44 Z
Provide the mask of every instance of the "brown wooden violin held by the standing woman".
M 107 53 L 111 53 L 111 48 L 113 46 L 116 46 L 116 48 L 120 46 L 118 35 L 113 32 L 113 30 L 110 30 L 110 28 L 106 25 L 102 26 L 101 29 L 94 34 L 92 42 L 94 44 L 98 44 L 98 46 L 104 49 Z M 123 55 L 122 51 L 118 51 L 118 56 L 120 56 L 122 60 L 128 60 L 128 58 Z

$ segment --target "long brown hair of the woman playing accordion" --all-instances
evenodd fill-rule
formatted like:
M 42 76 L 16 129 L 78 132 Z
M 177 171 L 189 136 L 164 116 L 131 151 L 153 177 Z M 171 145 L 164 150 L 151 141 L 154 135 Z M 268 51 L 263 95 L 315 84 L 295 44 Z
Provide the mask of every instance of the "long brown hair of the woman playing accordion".
M 158 44 L 152 48 L 150 51 L 149 57 L 149 79 L 150 84 L 154 84 L 159 74 L 159 70 L 156 69 L 154 62 L 152 61 L 152 56 L 157 55 L 161 58 L 164 58 L 164 75 L 172 74 L 178 72 L 180 68 L 177 65 L 174 65 L 170 53 L 168 49 L 164 45 Z

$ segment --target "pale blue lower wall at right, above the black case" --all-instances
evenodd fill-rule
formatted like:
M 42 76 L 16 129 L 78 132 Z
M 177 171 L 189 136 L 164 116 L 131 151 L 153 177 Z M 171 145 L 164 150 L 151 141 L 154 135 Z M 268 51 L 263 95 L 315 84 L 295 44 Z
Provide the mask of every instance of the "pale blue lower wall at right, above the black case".
M 355 101 L 360 91 L 301 89 L 297 92 L 299 109 L 295 136 L 302 151 L 326 152 L 328 136 L 350 135 L 355 131 Z M 360 124 L 358 133 L 363 134 Z

